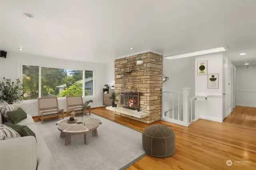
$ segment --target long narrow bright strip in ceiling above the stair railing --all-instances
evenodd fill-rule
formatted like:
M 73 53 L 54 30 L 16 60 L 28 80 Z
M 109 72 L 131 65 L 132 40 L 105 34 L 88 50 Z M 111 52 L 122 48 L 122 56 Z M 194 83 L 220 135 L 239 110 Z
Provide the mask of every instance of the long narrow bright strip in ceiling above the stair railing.
M 204 55 L 204 54 L 211 54 L 211 53 L 218 53 L 226 51 L 224 47 L 216 48 L 216 49 L 210 49 L 210 50 L 203 50 L 203 51 L 196 51 L 193 53 L 186 53 L 186 54 L 181 54 L 181 55 L 171 55 L 171 56 L 166 56 L 164 57 L 165 59 L 181 59 L 185 57 L 192 57 L 192 56 L 197 56 L 197 55 Z

